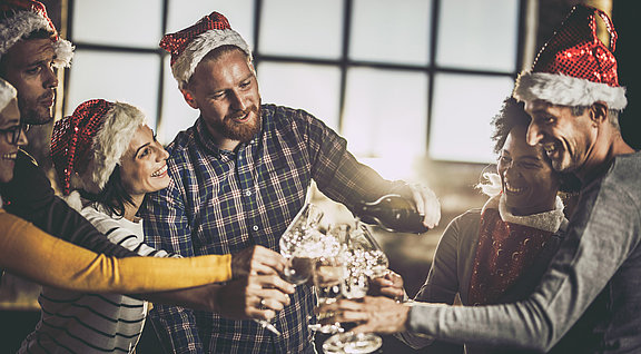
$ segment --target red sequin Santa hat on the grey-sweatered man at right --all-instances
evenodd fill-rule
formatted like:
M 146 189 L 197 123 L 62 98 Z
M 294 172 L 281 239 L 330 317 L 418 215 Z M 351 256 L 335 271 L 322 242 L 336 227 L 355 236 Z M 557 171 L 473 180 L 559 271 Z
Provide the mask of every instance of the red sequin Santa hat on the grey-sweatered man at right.
M 596 14 L 610 33 L 611 50 L 596 37 Z M 516 79 L 513 96 L 561 106 L 590 106 L 596 101 L 622 110 L 628 100 L 619 86 L 612 52 L 617 31 L 608 14 L 583 4 L 575 6 L 561 28 L 541 49 L 531 71 Z

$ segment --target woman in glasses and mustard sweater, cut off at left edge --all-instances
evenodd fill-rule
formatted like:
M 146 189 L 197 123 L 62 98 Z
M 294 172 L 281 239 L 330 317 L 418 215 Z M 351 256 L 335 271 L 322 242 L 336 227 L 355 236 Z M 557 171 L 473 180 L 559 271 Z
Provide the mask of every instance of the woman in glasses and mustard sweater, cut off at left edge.
M 0 79 L 0 183 L 13 178 L 18 149 L 27 144 L 16 96 L 16 89 Z M 1 203 L 0 199 L 0 206 Z M 290 285 L 277 276 L 283 268 L 278 258 L 270 259 L 272 274 L 247 276 L 257 266 L 265 269 L 254 256 L 265 254 L 256 249 L 193 258 L 118 259 L 52 237 L 2 208 L 0 230 L 0 268 L 65 289 L 141 294 L 140 297 L 155 302 L 216 311 L 237 318 L 269 318 L 274 309 L 280 309 L 283 303 L 288 302 L 280 297 L 267 298 L 273 293 L 253 294 L 250 285 L 256 282 L 273 283 L 286 293 L 293 292 Z M 237 279 L 229 282 L 227 288 L 211 284 L 233 278 Z M 245 302 L 220 306 L 220 299 L 229 293 L 243 296 Z

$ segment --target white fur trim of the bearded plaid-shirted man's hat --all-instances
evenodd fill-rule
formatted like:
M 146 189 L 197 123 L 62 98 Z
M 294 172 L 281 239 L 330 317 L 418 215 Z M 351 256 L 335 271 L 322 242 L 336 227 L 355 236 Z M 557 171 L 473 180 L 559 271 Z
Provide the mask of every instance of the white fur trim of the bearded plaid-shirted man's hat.
M 196 37 L 171 66 L 171 72 L 178 81 L 178 87 L 183 89 L 187 85 L 194 71 L 196 71 L 196 67 L 207 53 L 226 45 L 238 47 L 252 60 L 249 46 L 238 32 L 233 29 L 208 30 Z

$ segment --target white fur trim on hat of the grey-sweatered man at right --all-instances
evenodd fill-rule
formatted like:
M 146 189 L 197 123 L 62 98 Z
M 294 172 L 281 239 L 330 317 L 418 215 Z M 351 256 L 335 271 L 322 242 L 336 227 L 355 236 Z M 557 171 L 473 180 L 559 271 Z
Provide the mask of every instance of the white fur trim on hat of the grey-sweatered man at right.
M 571 107 L 603 101 L 610 109 L 622 110 L 628 105 L 623 87 L 550 72 L 522 72 L 516 79 L 512 96 L 520 101 L 541 99 Z

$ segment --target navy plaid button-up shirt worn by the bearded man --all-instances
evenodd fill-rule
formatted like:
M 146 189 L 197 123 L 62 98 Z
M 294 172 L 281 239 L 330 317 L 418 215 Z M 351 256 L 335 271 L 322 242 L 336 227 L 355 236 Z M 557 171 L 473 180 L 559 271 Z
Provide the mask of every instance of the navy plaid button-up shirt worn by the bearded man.
M 203 118 L 178 134 L 167 148 L 172 183 L 150 194 L 142 210 L 150 246 L 187 257 L 250 245 L 278 252 L 312 179 L 347 207 L 401 185 L 359 164 L 344 138 L 303 110 L 264 105 L 262 117 L 262 131 L 234 153 L 211 142 Z M 310 288 L 297 286 L 273 321 L 282 336 L 253 321 L 176 306 L 156 305 L 150 318 L 174 353 L 314 353 L 313 306 Z

